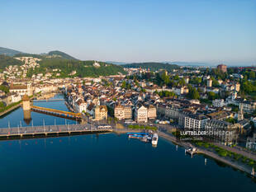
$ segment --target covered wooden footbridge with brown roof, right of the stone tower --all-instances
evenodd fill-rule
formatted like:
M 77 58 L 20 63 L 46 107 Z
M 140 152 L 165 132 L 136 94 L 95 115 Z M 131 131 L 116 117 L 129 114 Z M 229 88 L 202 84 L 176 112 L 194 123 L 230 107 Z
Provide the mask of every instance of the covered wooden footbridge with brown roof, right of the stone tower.
M 82 119 L 81 113 L 73 113 L 73 112 L 64 111 L 64 110 L 55 110 L 55 109 L 45 108 L 45 107 L 36 106 L 36 105 L 31 105 L 31 110 L 44 113 L 47 115 L 55 115 L 55 116 L 64 117 L 68 119 L 77 119 L 77 120 Z

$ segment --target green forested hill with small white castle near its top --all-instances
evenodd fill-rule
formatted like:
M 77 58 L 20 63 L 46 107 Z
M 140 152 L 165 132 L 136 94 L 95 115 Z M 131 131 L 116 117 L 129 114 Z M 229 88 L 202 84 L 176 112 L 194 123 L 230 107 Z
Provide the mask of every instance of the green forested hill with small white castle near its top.
M 74 59 L 42 59 L 40 68 L 30 69 L 27 77 L 38 73 L 53 73 L 53 77 L 99 77 L 125 73 L 121 66 L 98 62 L 100 66 L 93 66 L 94 61 L 80 61 Z M 60 69 L 58 71 L 54 69 Z M 72 74 L 73 72 L 75 74 Z M 59 73 L 59 75 L 57 75 Z

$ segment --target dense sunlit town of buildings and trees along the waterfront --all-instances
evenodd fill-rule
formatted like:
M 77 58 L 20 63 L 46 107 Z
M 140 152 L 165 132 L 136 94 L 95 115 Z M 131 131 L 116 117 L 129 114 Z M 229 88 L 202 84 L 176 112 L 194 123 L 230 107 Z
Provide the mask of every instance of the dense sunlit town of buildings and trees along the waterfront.
M 65 74 L 67 77 L 59 78 L 63 69 L 45 68 L 45 73 L 27 77 L 27 71 L 37 72 L 41 59 L 15 55 L 12 58 L 22 63 L 2 69 L 2 115 L 17 109 L 25 98 L 45 98 L 61 91 L 69 110 L 81 114 L 82 119 L 112 124 L 119 129 L 155 131 L 160 125 L 175 137 L 183 130 L 228 131 L 230 135 L 208 137 L 218 147 L 201 141 L 192 143 L 195 148 L 214 149 L 230 162 L 235 159 L 244 170 L 254 174 L 255 67 L 173 65 L 166 70 L 159 64 L 158 70 L 150 70 L 152 63 L 144 63 L 148 68 L 140 65 L 136 68 L 138 63 L 134 63 L 122 66 L 123 73 L 109 76 L 78 77 L 73 70 Z M 106 68 L 106 65 L 92 61 L 91 68 Z

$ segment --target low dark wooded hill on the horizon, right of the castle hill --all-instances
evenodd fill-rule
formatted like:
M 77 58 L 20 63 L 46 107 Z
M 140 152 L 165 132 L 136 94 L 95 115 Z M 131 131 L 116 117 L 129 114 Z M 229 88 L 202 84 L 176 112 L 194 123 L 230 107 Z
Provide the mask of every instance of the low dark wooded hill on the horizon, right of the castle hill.
M 179 68 L 176 64 L 168 64 L 168 63 L 129 63 L 122 65 L 124 68 L 149 68 L 152 71 L 156 71 L 159 69 L 166 69 L 167 71 L 171 71 L 173 68 Z

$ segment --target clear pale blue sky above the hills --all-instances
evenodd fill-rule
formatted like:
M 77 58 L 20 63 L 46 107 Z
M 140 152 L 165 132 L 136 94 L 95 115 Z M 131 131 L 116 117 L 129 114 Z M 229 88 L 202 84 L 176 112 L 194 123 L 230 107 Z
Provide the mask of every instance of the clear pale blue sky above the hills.
M 0 0 L 0 46 L 78 59 L 256 64 L 256 0 Z

